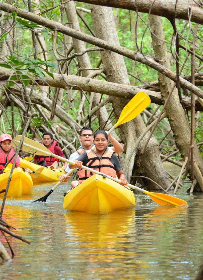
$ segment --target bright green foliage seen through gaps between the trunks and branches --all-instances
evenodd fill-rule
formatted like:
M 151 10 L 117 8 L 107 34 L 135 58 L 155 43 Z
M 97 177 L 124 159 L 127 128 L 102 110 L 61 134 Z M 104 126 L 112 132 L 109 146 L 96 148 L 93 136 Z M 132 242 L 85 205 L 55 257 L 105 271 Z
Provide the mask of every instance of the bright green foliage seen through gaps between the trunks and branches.
M 53 2 L 50 1 L 41 1 L 37 5 L 35 2 L 32 2 L 33 8 L 35 7 L 36 10 L 38 10 L 38 13 L 42 13 L 42 17 L 50 19 L 52 21 L 58 21 L 61 22 L 61 11 L 60 11 L 60 1 L 56 0 Z M 81 2 L 75 2 L 75 5 L 78 7 L 82 7 L 85 9 L 90 10 L 90 5 L 81 3 Z M 20 6 L 24 10 L 28 10 L 27 3 L 19 0 L 18 6 Z M 91 13 L 88 12 L 82 12 L 80 11 L 82 16 L 85 18 L 87 24 L 89 27 L 94 31 L 93 26 L 93 20 L 91 17 Z M 120 41 L 120 45 L 122 47 L 125 47 L 127 49 L 133 50 L 135 53 L 141 53 L 145 57 L 154 57 L 153 47 L 152 47 L 152 39 L 150 30 L 148 27 L 148 14 L 146 13 L 135 13 L 133 11 L 128 11 L 124 9 L 113 9 L 113 14 L 115 17 L 115 23 L 117 26 L 117 34 Z M 15 30 L 17 31 L 17 40 L 16 44 L 14 46 L 14 56 L 8 56 L 8 60 L 5 63 L 1 63 L 1 67 L 5 67 L 7 69 L 11 69 L 15 71 L 15 75 L 12 75 L 7 82 L 7 87 L 10 87 L 14 85 L 14 83 L 22 79 L 22 82 L 25 86 L 28 86 L 30 83 L 30 80 L 34 79 L 43 79 L 45 77 L 45 74 L 49 75 L 50 77 L 54 78 L 53 72 L 58 72 L 58 66 L 56 66 L 56 59 L 54 57 L 53 52 L 53 30 L 50 30 L 48 28 L 45 28 L 43 26 L 40 26 L 38 24 L 35 24 L 33 22 L 30 22 L 28 20 L 24 20 L 16 13 L 13 13 L 11 15 L 6 15 L 5 20 L 10 20 L 12 24 L 15 26 Z M 66 18 L 66 13 L 64 11 L 63 14 L 64 24 L 66 26 L 69 26 L 68 20 Z M 90 33 L 90 30 L 87 28 L 85 23 L 78 17 L 79 25 L 81 28 L 81 31 L 86 34 L 92 34 Z M 170 23 L 170 21 L 164 17 L 162 17 L 162 25 L 163 25 L 163 31 L 165 36 L 165 43 L 168 50 L 168 55 L 171 63 L 171 68 L 175 72 L 176 71 L 176 61 L 175 61 L 175 44 L 174 44 L 174 30 Z M 190 49 L 192 41 L 193 41 L 193 30 L 194 30 L 195 24 L 190 22 L 187 23 L 185 20 L 177 20 L 176 21 L 176 27 L 177 31 L 180 35 L 180 44 L 184 46 L 184 48 L 179 48 L 179 63 L 180 67 L 182 66 L 186 55 L 188 54 L 187 49 Z M 193 30 L 190 28 L 192 27 Z M 202 56 L 202 26 L 198 25 L 197 29 L 197 38 L 196 38 L 196 48 L 195 52 L 197 55 Z M 34 59 L 33 55 L 33 45 L 32 45 L 32 36 L 31 32 L 35 29 L 36 33 L 39 33 L 43 36 L 45 43 L 46 43 L 46 50 L 44 52 L 46 53 L 47 59 L 42 59 L 41 56 L 41 48 L 38 45 L 38 58 Z M 40 41 L 40 37 L 37 37 Z M 56 48 L 58 56 L 61 58 L 64 58 L 64 45 L 63 40 L 64 38 L 67 39 L 67 36 L 64 36 L 62 33 L 58 32 L 57 34 L 57 40 L 56 40 Z M 8 33 L 4 33 L 1 36 L 1 40 L 7 40 L 8 39 Z M 69 39 L 69 38 L 68 38 Z M 67 43 L 68 42 L 68 43 Z M 72 41 L 67 40 L 67 49 L 70 47 Z M 92 47 L 91 44 L 86 44 L 86 48 Z M 72 53 L 74 50 L 72 51 Z M 43 53 L 44 54 L 44 53 Z M 45 56 L 45 55 L 44 55 Z M 89 52 L 88 53 L 90 63 L 93 68 L 97 67 L 98 62 L 101 59 L 100 52 Z M 125 65 L 127 68 L 129 75 L 129 80 L 131 85 L 142 85 L 149 82 L 157 81 L 158 75 L 157 71 L 153 70 L 152 68 L 148 67 L 147 65 L 138 63 L 136 61 L 132 61 L 131 59 L 124 57 L 125 59 Z M 202 62 L 198 58 L 195 60 L 196 66 L 201 68 Z M 72 59 L 69 61 L 69 67 L 68 67 L 68 73 L 70 75 L 74 75 L 78 68 L 80 67 L 78 63 L 78 59 Z M 102 65 L 101 65 L 102 67 Z M 189 59 L 187 63 L 185 64 L 185 67 L 182 71 L 182 75 L 189 75 L 191 73 L 191 56 L 189 56 Z M 81 73 L 78 75 L 82 75 Z M 104 77 L 99 77 L 99 79 L 105 79 Z M 35 89 L 36 90 L 36 89 Z M 38 90 L 38 89 L 37 89 Z M 73 91 L 74 92 L 74 91 Z M 71 95 L 71 94 L 70 94 Z M 53 97 L 53 93 L 49 92 L 49 96 Z M 87 93 L 88 98 L 89 93 Z M 64 90 L 63 93 L 63 100 L 67 97 L 66 91 Z M 66 110 L 70 117 L 76 120 L 77 118 L 77 112 L 78 108 L 81 102 L 82 93 L 78 93 L 77 98 L 75 98 L 74 103 L 72 104 L 73 109 L 71 110 L 69 107 L 69 104 L 67 102 L 63 103 L 62 107 L 64 110 Z M 104 99 L 105 96 L 102 96 L 102 99 Z M 111 104 L 106 105 L 106 108 L 111 111 Z M 84 115 L 88 113 L 89 109 L 89 103 L 85 101 L 83 106 L 83 113 Z M 153 113 L 154 108 L 150 108 L 151 113 Z M 198 126 L 195 127 L 195 139 L 197 143 L 202 142 L 202 136 L 203 136 L 203 130 L 200 123 L 203 120 L 202 113 L 201 120 L 199 120 Z M 60 120 L 59 120 L 60 121 Z M 164 120 L 165 121 L 165 120 Z M 197 121 L 197 120 L 196 120 Z M 87 122 L 88 123 L 88 122 Z M 33 126 L 40 125 L 47 125 L 50 127 L 51 122 L 45 122 L 43 119 L 38 117 L 33 118 Z M 98 127 L 98 120 L 95 119 L 94 122 L 91 124 L 94 128 Z M 9 128 L 8 128 L 9 129 Z M 67 128 L 67 131 L 70 132 L 70 135 L 72 135 L 72 131 L 70 128 Z M 162 123 L 159 123 L 159 128 L 157 128 L 154 132 L 154 136 L 158 140 L 158 142 L 161 141 L 161 139 L 164 138 L 165 134 L 167 132 L 164 129 L 164 125 Z M 72 137 L 72 136 L 71 136 Z M 161 144 L 161 149 L 173 152 L 173 148 L 171 148 L 174 145 L 174 139 L 172 136 L 168 136 Z M 202 145 L 199 146 L 200 151 L 202 152 Z M 203 152 L 202 152 L 203 153 Z M 180 154 L 174 155 L 174 159 L 181 160 Z

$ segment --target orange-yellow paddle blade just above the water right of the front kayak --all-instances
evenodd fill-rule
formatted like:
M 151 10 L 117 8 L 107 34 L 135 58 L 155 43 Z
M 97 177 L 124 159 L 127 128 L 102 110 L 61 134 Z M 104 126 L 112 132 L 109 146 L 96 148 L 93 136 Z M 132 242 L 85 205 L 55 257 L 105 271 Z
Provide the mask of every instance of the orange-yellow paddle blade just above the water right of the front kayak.
M 164 206 L 185 206 L 187 202 L 180 198 L 176 198 L 174 196 L 170 196 L 168 194 L 159 194 L 159 193 L 152 193 L 144 190 L 144 194 L 148 194 L 149 197 L 159 205 Z

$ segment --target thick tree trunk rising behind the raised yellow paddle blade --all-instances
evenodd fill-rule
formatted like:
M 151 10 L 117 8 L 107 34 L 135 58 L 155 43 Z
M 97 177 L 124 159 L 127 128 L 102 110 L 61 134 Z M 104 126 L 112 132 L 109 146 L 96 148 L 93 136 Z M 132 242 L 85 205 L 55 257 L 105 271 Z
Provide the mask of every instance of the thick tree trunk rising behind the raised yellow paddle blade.
M 94 29 L 97 37 L 120 46 L 115 23 L 113 20 L 112 9 L 108 7 L 91 5 L 91 10 Z M 101 52 L 101 57 L 103 65 L 105 66 L 107 81 L 129 85 L 129 78 L 123 56 L 105 50 Z M 123 102 L 123 99 L 121 98 L 114 98 L 112 102 L 115 113 L 118 117 L 125 104 Z M 142 121 L 141 116 L 139 115 L 133 121 L 129 121 L 125 123 L 125 125 L 121 125 L 120 127 L 122 135 L 125 137 L 126 158 L 128 158 L 128 154 L 131 152 L 133 144 L 141 135 L 141 133 L 146 130 L 146 126 Z M 142 145 L 139 145 L 138 150 L 141 149 L 141 146 L 143 146 L 146 139 L 147 136 L 145 136 Z M 134 166 L 134 160 L 135 159 L 133 156 L 130 159 L 128 167 L 126 168 L 126 170 L 124 170 L 128 181 L 130 181 L 130 176 L 132 174 Z M 154 181 L 159 182 L 159 184 L 165 188 L 170 185 L 170 180 L 163 169 L 161 158 L 159 155 L 158 144 L 154 137 L 151 137 L 145 154 L 142 157 L 141 168 L 138 168 L 138 172 L 139 171 L 141 171 L 142 175 L 145 175 L 153 179 Z M 157 186 L 155 186 L 154 183 L 150 181 L 148 182 L 148 186 L 149 189 L 157 188 Z

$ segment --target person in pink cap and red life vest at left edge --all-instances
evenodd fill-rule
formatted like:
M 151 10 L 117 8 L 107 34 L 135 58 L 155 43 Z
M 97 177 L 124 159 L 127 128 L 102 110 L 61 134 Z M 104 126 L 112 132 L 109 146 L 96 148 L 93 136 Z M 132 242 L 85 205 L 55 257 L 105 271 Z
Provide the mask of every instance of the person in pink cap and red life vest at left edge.
M 14 148 L 11 147 L 12 137 L 10 134 L 2 134 L 0 137 L 0 174 L 4 169 L 6 163 L 9 159 L 14 155 L 15 151 Z M 10 161 L 10 163 L 14 162 L 14 158 Z M 15 167 L 20 167 L 20 158 L 19 155 L 17 156 Z M 26 171 L 30 173 L 30 169 L 26 168 Z

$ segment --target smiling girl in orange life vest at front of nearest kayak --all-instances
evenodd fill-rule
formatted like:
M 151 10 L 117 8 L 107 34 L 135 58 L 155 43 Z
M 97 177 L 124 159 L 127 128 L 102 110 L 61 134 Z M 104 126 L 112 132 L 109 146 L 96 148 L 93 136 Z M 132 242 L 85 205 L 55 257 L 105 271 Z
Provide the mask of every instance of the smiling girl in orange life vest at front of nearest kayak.
M 96 149 L 85 151 L 78 159 L 74 160 L 75 165 L 69 164 L 71 169 L 78 167 L 81 168 L 82 165 L 93 168 L 95 170 L 101 171 L 107 175 L 114 178 L 116 176 L 121 180 L 121 185 L 127 185 L 127 180 L 123 174 L 121 164 L 114 151 L 107 149 L 108 136 L 105 131 L 98 130 L 94 134 L 94 145 Z M 99 158 L 98 158 L 99 157 Z M 78 171 L 79 183 L 84 181 L 86 178 L 94 175 L 94 173 L 81 169 Z M 75 181 L 74 181 L 75 182 Z M 76 187 L 78 184 L 71 185 L 72 188 Z

